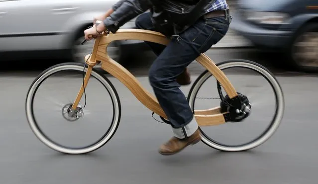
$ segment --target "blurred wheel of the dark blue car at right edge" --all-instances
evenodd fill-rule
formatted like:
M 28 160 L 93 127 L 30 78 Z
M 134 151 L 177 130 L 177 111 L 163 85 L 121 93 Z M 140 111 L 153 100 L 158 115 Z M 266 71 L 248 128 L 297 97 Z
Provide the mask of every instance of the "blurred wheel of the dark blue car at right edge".
M 309 23 L 296 33 L 289 56 L 296 69 L 318 71 L 318 23 Z

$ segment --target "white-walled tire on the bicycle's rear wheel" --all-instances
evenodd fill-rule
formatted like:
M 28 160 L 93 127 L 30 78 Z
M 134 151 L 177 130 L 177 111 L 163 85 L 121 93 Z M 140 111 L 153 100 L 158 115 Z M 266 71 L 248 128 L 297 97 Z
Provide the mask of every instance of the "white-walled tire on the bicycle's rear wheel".
M 199 127 L 201 136 L 202 136 L 202 142 L 208 145 L 209 147 L 212 147 L 214 149 L 221 150 L 221 151 L 227 151 L 227 152 L 245 151 L 265 143 L 275 133 L 275 131 L 279 127 L 280 122 L 283 118 L 283 114 L 284 114 L 284 95 L 283 95 L 283 91 L 279 82 L 269 70 L 267 70 L 262 65 L 252 61 L 242 60 L 242 59 L 233 59 L 233 60 L 217 63 L 216 65 L 219 67 L 220 70 L 224 70 L 231 67 L 243 67 L 243 68 L 252 69 L 260 73 L 263 77 L 266 78 L 266 80 L 270 83 L 270 85 L 273 88 L 273 91 L 275 93 L 275 98 L 276 98 L 276 111 L 275 111 L 275 116 L 272 119 L 272 122 L 270 126 L 268 127 L 268 129 L 265 130 L 263 134 L 260 135 L 258 138 L 246 144 L 242 144 L 239 146 L 227 146 L 227 145 L 219 144 L 216 141 L 213 141 L 212 139 L 210 139 Z M 194 82 L 193 86 L 190 89 L 190 92 L 188 95 L 188 101 L 193 111 L 194 111 L 194 102 L 195 102 L 196 95 L 200 87 L 210 76 L 212 76 L 212 74 L 208 70 L 204 71 L 197 78 L 197 80 Z

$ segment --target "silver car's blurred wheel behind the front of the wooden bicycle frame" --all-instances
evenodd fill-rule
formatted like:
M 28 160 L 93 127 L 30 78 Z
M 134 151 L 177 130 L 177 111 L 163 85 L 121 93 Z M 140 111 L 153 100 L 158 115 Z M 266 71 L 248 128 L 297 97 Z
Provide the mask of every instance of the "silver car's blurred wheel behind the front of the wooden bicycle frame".
M 84 45 L 81 43 L 84 40 L 84 31 L 81 31 L 73 41 L 72 44 L 72 60 L 74 62 L 83 63 L 85 62 L 84 58 L 87 54 L 90 54 L 93 50 L 94 40 L 87 41 Z M 107 53 L 109 57 L 119 62 L 122 59 L 122 46 L 120 41 L 113 41 L 107 47 Z M 96 68 L 100 68 L 101 65 L 96 65 Z

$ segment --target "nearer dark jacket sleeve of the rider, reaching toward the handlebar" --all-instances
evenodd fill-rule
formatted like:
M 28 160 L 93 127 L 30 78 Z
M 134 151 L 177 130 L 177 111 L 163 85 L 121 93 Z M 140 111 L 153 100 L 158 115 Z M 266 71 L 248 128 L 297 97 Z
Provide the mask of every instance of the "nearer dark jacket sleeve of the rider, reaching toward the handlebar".
M 119 3 L 121 4 L 117 6 Z M 150 7 L 149 0 L 120 0 L 116 4 L 114 7 L 116 10 L 104 20 L 105 27 L 112 33 L 115 33 L 120 26 Z

